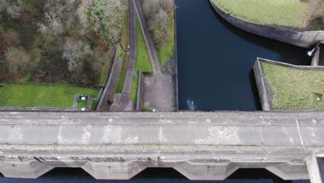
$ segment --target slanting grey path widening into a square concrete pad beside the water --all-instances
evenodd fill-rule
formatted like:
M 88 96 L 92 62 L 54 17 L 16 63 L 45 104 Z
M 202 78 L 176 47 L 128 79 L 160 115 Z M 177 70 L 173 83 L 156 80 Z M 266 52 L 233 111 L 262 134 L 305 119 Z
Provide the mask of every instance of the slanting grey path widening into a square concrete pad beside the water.
M 150 53 L 154 74 L 144 78 L 144 107 L 154 109 L 158 112 L 174 112 L 177 108 L 176 78 L 161 73 L 159 58 L 157 57 L 154 42 L 147 28 L 141 3 L 134 1 L 138 20 L 141 25 L 143 36 Z

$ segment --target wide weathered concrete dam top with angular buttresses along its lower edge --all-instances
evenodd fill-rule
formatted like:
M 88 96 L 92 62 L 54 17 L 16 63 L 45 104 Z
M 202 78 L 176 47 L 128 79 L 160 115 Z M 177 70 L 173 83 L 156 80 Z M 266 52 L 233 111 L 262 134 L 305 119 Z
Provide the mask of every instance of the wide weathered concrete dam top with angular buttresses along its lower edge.
M 224 180 L 238 168 L 309 179 L 305 158 L 324 154 L 324 113 L 0 112 L 0 172 L 35 178 L 81 167 L 129 179 L 169 167 L 191 180 Z

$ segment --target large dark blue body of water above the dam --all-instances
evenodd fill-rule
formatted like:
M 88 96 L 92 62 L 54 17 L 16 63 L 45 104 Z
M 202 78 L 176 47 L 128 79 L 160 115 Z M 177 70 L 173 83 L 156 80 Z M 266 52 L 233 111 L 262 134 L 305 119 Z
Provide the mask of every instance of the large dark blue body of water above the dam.
M 305 49 L 228 24 L 208 0 L 176 3 L 181 110 L 260 110 L 251 72 L 257 57 L 293 64 L 311 62 Z

